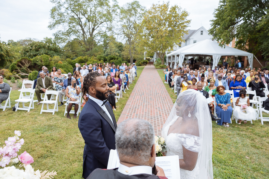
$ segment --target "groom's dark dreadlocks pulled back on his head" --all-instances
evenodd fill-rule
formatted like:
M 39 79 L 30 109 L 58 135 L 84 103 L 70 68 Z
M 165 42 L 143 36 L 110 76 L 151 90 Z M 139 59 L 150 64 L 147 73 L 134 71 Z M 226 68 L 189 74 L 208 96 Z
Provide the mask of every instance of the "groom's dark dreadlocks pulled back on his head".
M 102 76 L 100 73 L 98 72 L 89 72 L 84 80 L 83 80 L 83 87 L 81 89 L 81 93 L 82 93 L 82 98 L 85 100 L 86 98 L 86 94 L 90 94 L 90 92 L 88 91 L 90 87 L 95 87 L 96 83 L 97 83 L 97 79 L 96 77 L 98 76 Z

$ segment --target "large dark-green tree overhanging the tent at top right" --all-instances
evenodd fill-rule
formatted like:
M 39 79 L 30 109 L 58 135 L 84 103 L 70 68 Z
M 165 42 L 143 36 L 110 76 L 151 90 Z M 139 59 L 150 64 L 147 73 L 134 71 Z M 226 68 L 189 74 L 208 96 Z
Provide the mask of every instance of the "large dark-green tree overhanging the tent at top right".
M 261 54 L 259 37 L 263 30 L 257 26 L 267 14 L 268 5 L 264 0 L 220 0 L 209 33 L 222 42 L 220 46 L 236 39 L 236 48 Z

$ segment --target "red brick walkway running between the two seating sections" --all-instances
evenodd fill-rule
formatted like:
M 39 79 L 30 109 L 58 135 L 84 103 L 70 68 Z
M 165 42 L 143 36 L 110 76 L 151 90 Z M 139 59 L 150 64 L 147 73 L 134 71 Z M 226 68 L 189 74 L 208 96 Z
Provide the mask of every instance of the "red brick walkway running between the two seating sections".
M 157 70 L 153 65 L 146 66 L 117 124 L 119 125 L 120 122 L 128 118 L 141 118 L 149 121 L 154 126 L 155 135 L 161 135 L 161 129 L 172 107 L 173 102 Z

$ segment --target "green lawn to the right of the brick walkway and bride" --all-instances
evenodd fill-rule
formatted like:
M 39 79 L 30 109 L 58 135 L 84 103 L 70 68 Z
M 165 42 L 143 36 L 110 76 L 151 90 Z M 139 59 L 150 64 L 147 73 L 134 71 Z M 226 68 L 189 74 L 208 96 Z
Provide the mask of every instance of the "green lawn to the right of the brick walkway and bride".
M 164 82 L 162 70 L 158 73 Z M 175 102 L 174 90 L 164 85 Z M 212 123 L 214 178 L 269 178 L 269 122 L 232 122 L 229 128 Z

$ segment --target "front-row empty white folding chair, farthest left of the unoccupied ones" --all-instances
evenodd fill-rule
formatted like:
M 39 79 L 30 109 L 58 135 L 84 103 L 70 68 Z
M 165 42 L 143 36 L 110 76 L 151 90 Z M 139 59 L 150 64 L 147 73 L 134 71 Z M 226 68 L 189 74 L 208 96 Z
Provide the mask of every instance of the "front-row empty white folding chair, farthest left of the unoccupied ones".
M 25 97 L 23 95 L 23 93 L 26 94 L 27 92 L 30 93 L 29 96 L 31 98 L 27 98 L 27 96 Z M 35 96 L 35 89 L 22 89 L 21 93 L 20 93 L 20 96 L 19 96 L 19 99 L 15 100 L 15 102 L 17 102 L 17 106 L 16 106 L 15 111 L 17 111 L 17 110 L 25 110 L 25 111 L 29 112 L 30 109 L 34 109 L 34 103 L 33 103 L 34 96 Z M 24 104 L 29 103 L 29 102 L 30 102 L 29 107 L 25 107 Z M 22 107 L 19 107 L 19 103 L 22 103 Z

